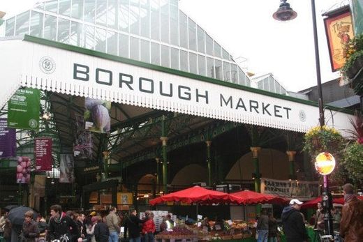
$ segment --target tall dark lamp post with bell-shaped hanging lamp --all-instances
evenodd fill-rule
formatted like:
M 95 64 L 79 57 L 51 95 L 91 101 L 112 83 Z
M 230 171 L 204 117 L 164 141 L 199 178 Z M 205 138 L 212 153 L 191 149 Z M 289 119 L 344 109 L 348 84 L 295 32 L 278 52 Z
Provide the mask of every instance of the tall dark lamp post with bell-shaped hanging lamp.
M 286 2 L 287 0 L 281 0 L 281 4 L 279 9 L 276 10 L 276 13 L 272 15 L 275 20 L 279 21 L 288 21 L 293 20 L 297 17 L 297 13 L 292 10 L 290 4 Z M 320 75 L 320 58 L 319 58 L 319 45 L 318 45 L 318 31 L 316 27 L 316 10 L 315 10 L 315 0 L 311 0 L 311 15 L 313 18 L 313 37 L 314 37 L 314 50 L 315 50 L 315 64 L 316 64 L 316 82 L 318 86 L 318 105 L 319 105 L 319 123 L 320 128 L 325 125 L 325 117 L 324 117 L 324 105 L 323 105 L 323 91 L 321 85 L 321 75 Z M 323 191 L 323 199 L 326 199 L 326 207 L 324 214 L 324 225 L 325 225 L 325 233 L 334 236 L 333 230 L 333 220 L 332 213 L 330 209 L 332 209 L 332 195 L 329 192 L 329 183 L 327 174 L 323 175 L 324 178 L 324 191 Z

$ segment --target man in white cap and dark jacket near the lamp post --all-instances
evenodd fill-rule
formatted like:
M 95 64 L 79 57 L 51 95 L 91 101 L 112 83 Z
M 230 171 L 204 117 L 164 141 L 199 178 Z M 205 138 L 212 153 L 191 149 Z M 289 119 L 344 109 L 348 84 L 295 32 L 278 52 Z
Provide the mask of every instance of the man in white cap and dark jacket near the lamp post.
M 290 205 L 282 211 L 281 220 L 287 242 L 308 241 L 304 220 L 300 213 L 301 204 L 302 202 L 298 199 L 292 199 Z

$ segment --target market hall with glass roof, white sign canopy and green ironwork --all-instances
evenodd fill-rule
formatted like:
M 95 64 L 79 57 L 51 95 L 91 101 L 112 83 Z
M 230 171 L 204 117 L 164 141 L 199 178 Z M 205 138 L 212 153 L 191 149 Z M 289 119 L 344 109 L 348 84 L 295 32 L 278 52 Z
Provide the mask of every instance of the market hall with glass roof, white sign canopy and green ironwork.
M 318 104 L 286 95 L 272 75 L 252 81 L 177 0 L 40 1 L 3 27 L 1 117 L 26 87 L 40 90 L 41 118 L 37 130 L 17 129 L 29 185 L 14 185 L 16 158 L 0 162 L 2 204 L 127 209 L 193 183 L 260 192 L 261 179 L 313 181 L 300 151 Z M 87 136 L 91 152 L 80 157 L 87 98 L 112 102 L 110 128 Z M 325 106 L 327 125 L 343 135 L 352 114 Z M 52 138 L 50 171 L 36 172 L 36 137 Z M 75 179 L 64 183 L 65 157 Z

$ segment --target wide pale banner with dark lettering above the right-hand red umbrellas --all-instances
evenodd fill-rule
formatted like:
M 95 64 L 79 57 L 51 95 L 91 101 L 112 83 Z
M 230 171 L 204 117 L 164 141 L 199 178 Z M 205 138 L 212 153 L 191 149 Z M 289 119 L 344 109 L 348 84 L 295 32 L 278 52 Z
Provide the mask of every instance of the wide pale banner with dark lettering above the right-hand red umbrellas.
M 267 178 L 261 179 L 261 193 L 302 200 L 320 196 L 318 181 L 290 181 Z

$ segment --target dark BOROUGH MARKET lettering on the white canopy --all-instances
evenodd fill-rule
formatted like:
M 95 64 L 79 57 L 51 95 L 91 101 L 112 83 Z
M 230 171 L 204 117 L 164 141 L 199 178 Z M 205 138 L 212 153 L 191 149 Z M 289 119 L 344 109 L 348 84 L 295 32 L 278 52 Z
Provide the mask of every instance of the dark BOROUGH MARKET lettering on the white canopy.
M 209 91 L 200 91 L 198 88 L 191 88 L 182 84 L 173 84 L 172 82 L 165 83 L 163 81 L 155 82 L 146 77 L 139 77 L 138 80 L 133 75 L 126 73 L 113 73 L 112 70 L 105 70 L 96 68 L 93 70 L 92 75 L 95 75 L 95 82 L 102 85 L 112 86 L 114 82 L 118 83 L 120 89 L 128 89 L 134 91 L 138 89 L 143 93 L 156 93 L 155 87 L 158 85 L 158 94 L 167 97 L 177 97 L 181 100 L 195 101 L 197 103 L 209 104 Z M 114 80 L 117 78 L 117 80 Z M 84 82 L 90 80 L 89 66 L 80 63 L 73 63 L 73 79 Z M 136 83 L 138 82 L 138 83 Z M 275 116 L 278 118 L 290 119 L 290 107 L 282 105 L 272 105 L 271 103 L 264 103 L 258 100 L 248 100 L 242 97 L 230 96 L 225 93 L 219 93 L 218 98 L 220 107 L 228 107 L 230 109 L 237 109 L 242 112 L 251 112 L 255 114 L 263 114 L 266 116 Z

